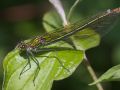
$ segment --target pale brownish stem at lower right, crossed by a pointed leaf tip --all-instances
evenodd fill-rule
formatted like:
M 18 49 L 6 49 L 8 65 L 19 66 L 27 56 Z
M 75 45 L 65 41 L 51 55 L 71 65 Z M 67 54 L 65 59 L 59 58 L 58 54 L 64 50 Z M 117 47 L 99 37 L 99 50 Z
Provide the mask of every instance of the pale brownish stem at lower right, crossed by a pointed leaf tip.
M 86 65 L 86 67 L 88 69 L 88 72 L 90 73 L 92 79 L 94 81 L 96 81 L 97 80 L 97 76 L 96 76 L 96 74 L 95 74 L 92 66 L 90 65 L 90 62 L 88 61 L 87 57 L 85 57 L 84 59 L 85 59 L 84 60 L 84 64 Z M 96 84 L 96 87 L 98 88 L 98 90 L 104 90 L 103 87 L 102 87 L 102 85 L 100 83 Z

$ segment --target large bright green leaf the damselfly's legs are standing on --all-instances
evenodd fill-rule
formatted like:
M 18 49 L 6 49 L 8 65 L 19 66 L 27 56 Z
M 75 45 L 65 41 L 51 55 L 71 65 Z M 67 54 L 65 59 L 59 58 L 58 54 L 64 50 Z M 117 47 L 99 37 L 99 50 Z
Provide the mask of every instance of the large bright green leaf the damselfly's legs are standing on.
M 58 43 L 54 45 L 60 46 Z M 62 45 L 69 47 L 67 44 L 65 45 L 65 43 Z M 41 56 L 56 56 L 70 72 L 64 69 L 56 58 Z M 72 49 L 51 51 L 44 54 L 37 53 L 36 58 L 39 61 L 41 69 L 35 79 L 34 86 L 33 78 L 37 65 L 31 60 L 31 69 L 23 73 L 21 79 L 19 79 L 20 72 L 27 63 L 27 58 L 21 55 L 18 49 L 15 49 L 8 53 L 3 62 L 5 77 L 3 88 L 4 90 L 50 90 L 53 81 L 70 76 L 82 62 L 83 57 L 83 51 Z

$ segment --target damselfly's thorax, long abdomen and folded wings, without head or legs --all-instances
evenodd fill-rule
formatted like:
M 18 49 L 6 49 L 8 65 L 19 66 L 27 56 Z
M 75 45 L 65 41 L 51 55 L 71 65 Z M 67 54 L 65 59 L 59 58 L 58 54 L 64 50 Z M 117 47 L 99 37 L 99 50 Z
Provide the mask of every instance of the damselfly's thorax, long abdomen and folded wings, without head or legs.
M 113 26 L 113 24 L 118 20 L 119 15 L 120 8 L 116 8 L 113 10 L 109 9 L 91 18 L 87 18 L 82 22 L 78 21 L 74 24 L 70 24 L 63 28 L 60 28 L 59 30 L 55 30 L 54 32 L 49 32 L 41 36 L 37 36 L 28 43 L 24 44 L 30 46 L 31 48 L 49 45 L 63 40 L 64 38 L 67 38 L 69 36 L 72 36 L 75 33 L 82 31 L 86 28 L 92 28 L 93 30 L 95 30 L 95 32 L 98 32 L 99 34 L 103 35 L 105 32 L 107 32 L 107 29 Z M 26 49 L 26 47 L 21 49 Z

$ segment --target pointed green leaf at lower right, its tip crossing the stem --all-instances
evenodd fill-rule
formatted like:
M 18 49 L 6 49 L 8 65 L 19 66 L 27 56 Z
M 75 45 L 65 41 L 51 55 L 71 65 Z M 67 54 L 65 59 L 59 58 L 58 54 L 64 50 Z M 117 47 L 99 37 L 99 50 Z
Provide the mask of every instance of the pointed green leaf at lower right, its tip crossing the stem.
M 91 83 L 90 85 L 106 81 L 120 81 L 120 64 L 109 69 L 97 81 Z

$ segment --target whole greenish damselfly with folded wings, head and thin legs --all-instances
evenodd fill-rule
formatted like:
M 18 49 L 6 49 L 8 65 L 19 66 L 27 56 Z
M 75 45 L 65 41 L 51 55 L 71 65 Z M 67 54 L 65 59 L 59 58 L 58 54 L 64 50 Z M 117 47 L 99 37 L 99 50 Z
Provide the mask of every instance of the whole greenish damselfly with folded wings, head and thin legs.
M 27 70 L 29 70 L 31 68 L 30 59 L 32 59 L 36 63 L 38 69 L 40 69 L 39 62 L 35 58 L 34 53 L 36 53 L 36 52 L 38 53 L 38 52 L 42 52 L 42 51 L 49 52 L 50 50 L 55 51 L 54 48 L 45 49 L 44 46 L 51 45 L 58 41 L 62 41 L 66 38 L 69 38 L 70 36 L 74 35 L 75 33 L 80 32 L 86 28 L 91 28 L 99 34 L 104 34 L 106 32 L 106 29 L 115 23 L 115 21 L 118 19 L 119 15 L 120 15 L 120 8 L 116 8 L 116 9 L 112 9 L 112 10 L 109 9 L 107 11 L 96 14 L 95 16 L 93 16 L 91 18 L 87 18 L 82 22 L 78 21 L 74 24 L 69 24 L 65 27 L 60 28 L 57 31 L 49 32 L 44 35 L 32 38 L 31 40 L 29 40 L 27 42 L 22 41 L 21 43 L 19 43 L 17 45 L 17 48 L 19 48 L 21 51 L 26 52 L 26 55 L 28 57 L 28 63 L 25 65 L 25 67 L 21 71 L 20 75 L 22 75 L 24 72 L 26 72 Z M 45 56 L 45 57 L 47 57 L 47 56 Z M 60 65 L 64 69 L 69 71 L 69 69 L 64 67 L 62 62 L 57 57 L 48 57 L 48 58 L 56 58 L 59 61 Z M 29 65 L 29 68 L 27 70 L 25 70 L 27 65 Z

